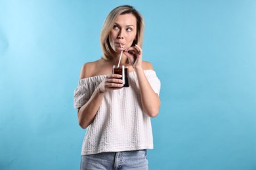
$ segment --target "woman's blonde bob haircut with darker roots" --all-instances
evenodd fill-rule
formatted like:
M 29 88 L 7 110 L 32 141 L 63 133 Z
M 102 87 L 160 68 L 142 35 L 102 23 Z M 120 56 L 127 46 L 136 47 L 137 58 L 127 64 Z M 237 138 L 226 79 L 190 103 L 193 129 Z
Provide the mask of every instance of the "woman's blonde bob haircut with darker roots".
M 138 44 L 142 46 L 143 41 L 143 33 L 144 33 L 144 19 L 142 15 L 132 6 L 130 5 L 122 5 L 113 9 L 110 14 L 108 14 L 104 24 L 102 25 L 102 29 L 100 32 L 100 46 L 102 48 L 103 59 L 109 60 L 112 58 L 112 54 L 114 50 L 110 46 L 110 41 L 108 36 L 110 35 L 110 31 L 114 27 L 114 23 L 116 18 L 122 14 L 133 14 L 137 20 L 137 33 L 135 37 L 135 41 L 133 44 Z

